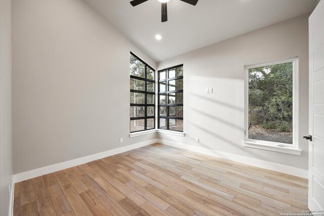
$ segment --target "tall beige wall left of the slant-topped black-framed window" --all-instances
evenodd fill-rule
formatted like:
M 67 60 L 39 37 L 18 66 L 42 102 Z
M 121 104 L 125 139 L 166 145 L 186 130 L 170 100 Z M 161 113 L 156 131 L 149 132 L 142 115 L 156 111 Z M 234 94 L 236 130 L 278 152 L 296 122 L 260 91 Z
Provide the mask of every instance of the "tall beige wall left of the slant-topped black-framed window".
M 129 138 L 130 51 L 156 63 L 93 9 L 13 0 L 12 21 L 14 174 L 156 138 Z

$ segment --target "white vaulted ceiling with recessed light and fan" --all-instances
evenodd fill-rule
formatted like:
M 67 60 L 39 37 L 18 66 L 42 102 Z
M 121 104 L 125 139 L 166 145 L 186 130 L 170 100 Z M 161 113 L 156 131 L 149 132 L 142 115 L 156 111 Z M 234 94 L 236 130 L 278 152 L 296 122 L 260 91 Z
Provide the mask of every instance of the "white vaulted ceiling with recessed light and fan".
M 136 7 L 130 0 L 84 1 L 156 62 L 311 12 L 316 5 L 316 0 L 199 0 L 192 6 L 170 0 L 168 21 L 161 23 L 157 0 Z

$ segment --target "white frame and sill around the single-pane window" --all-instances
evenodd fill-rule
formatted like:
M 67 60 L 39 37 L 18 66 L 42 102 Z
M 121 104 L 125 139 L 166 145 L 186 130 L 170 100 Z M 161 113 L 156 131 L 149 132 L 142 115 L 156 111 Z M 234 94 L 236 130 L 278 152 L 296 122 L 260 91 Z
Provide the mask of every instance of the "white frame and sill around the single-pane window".
M 293 63 L 293 144 L 288 143 L 279 143 L 279 142 L 271 142 L 271 141 L 264 141 L 264 140 L 255 140 L 249 138 L 249 69 L 256 68 L 256 67 L 264 67 L 264 66 L 270 66 L 270 65 L 276 65 L 276 64 L 283 64 L 283 63 Z M 289 149 L 298 149 L 298 56 L 291 57 L 291 58 L 285 58 L 285 59 L 279 59 L 259 64 L 253 64 L 253 65 L 247 65 L 245 66 L 245 128 L 244 128 L 244 143 L 246 147 L 252 147 L 252 148 L 261 148 L 261 149 L 267 149 L 272 151 L 279 151 L 279 150 L 273 150 L 272 147 L 279 147 L 281 149 L 284 149 L 281 152 L 289 153 Z M 288 149 L 286 151 L 285 149 Z M 296 152 L 295 152 L 296 153 Z M 292 154 L 295 154 L 292 153 Z M 296 154 L 300 155 L 300 152 L 297 152 Z

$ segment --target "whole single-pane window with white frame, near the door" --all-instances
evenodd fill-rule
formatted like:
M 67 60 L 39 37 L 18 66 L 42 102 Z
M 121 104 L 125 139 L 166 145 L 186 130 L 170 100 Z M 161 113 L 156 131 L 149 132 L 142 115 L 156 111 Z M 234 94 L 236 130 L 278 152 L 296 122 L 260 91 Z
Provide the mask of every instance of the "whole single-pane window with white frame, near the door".
M 298 148 L 298 58 L 246 66 L 245 141 Z

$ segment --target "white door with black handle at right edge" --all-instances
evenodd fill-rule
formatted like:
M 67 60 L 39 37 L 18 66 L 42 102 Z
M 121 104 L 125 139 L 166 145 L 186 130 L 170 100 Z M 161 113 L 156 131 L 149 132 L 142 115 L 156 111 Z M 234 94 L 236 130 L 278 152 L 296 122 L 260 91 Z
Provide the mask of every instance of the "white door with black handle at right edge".
M 324 0 L 309 17 L 308 207 L 324 209 Z

